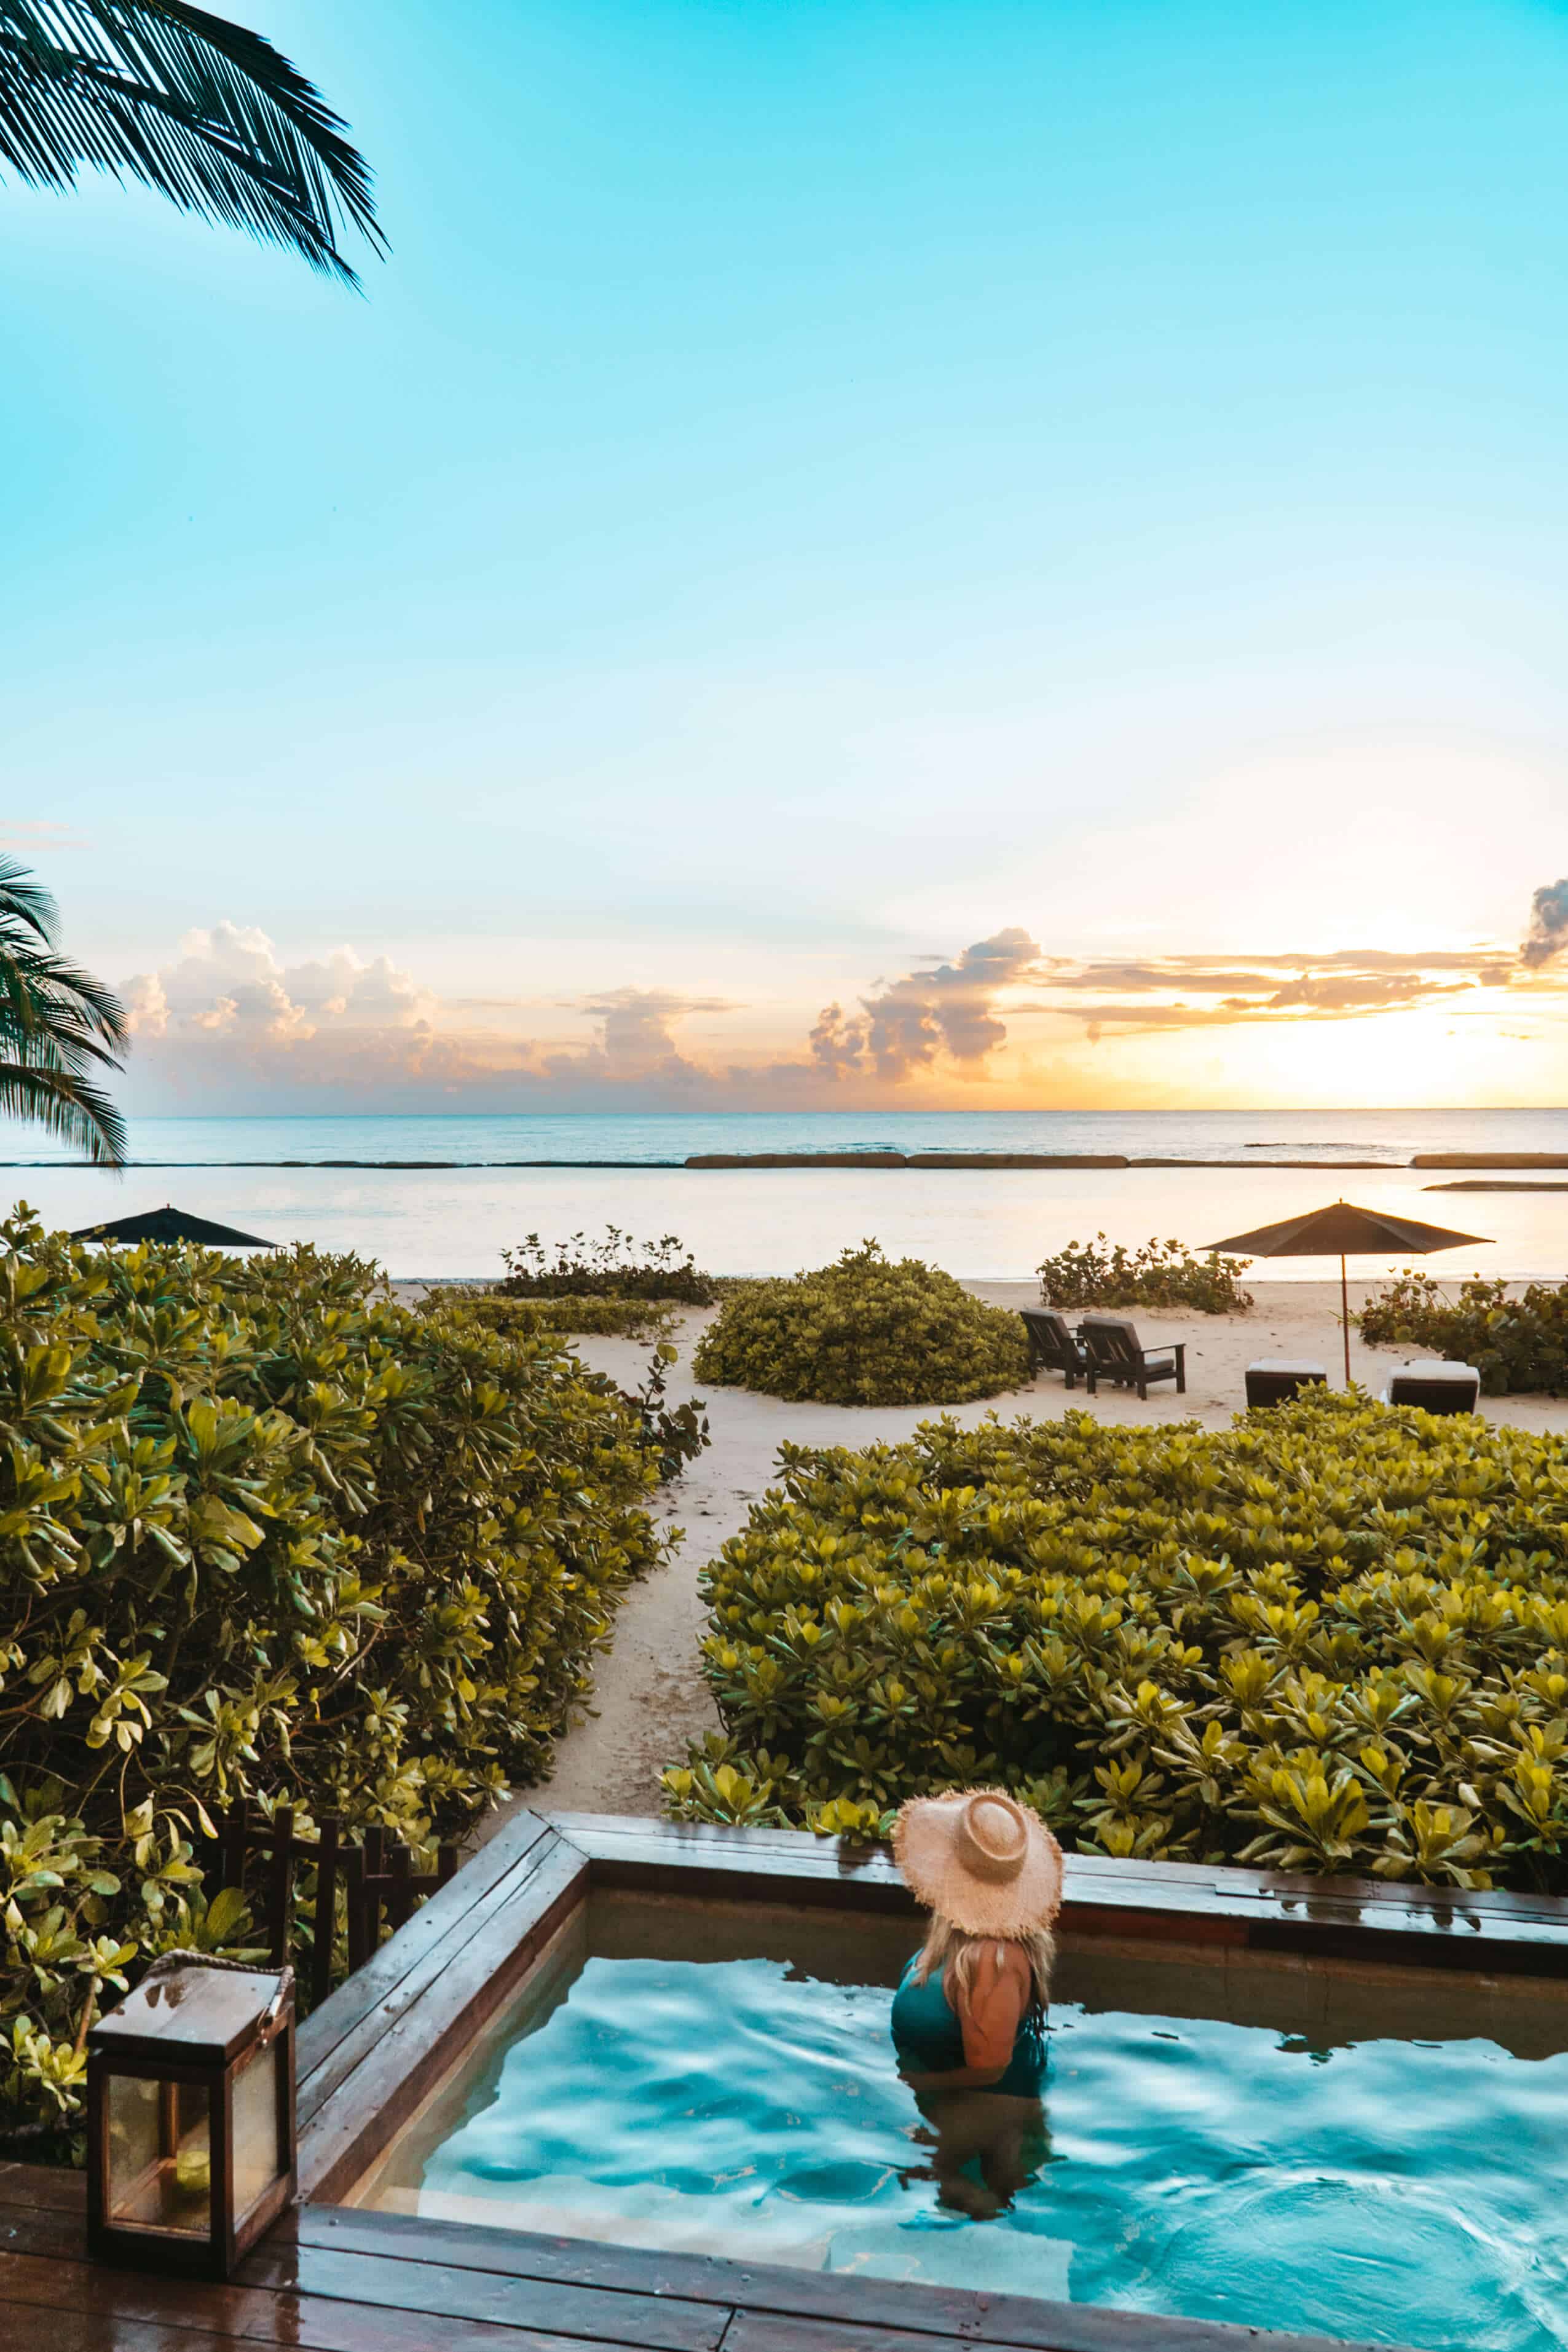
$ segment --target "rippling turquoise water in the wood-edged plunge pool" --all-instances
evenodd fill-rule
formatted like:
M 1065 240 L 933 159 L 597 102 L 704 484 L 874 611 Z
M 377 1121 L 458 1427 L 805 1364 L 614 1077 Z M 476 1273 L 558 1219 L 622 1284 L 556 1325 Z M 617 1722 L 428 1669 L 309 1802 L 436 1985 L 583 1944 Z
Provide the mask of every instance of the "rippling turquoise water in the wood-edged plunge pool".
M 1237 1994 L 1145 1962 L 1131 2009 L 1128 1971 L 1079 1955 L 1041 2107 L 1006 2122 L 1004 2192 L 1023 2185 L 999 2204 L 994 2105 L 922 2117 L 898 2077 L 907 1929 L 872 1947 L 797 1919 L 738 1955 L 741 1931 L 679 1910 L 684 1933 L 595 1903 L 360 2199 L 1425 2352 L 1568 2345 L 1549 2004 L 1446 1985 L 1427 2034 L 1415 1971 L 1361 1971 L 1347 2034 L 1321 1973 Z

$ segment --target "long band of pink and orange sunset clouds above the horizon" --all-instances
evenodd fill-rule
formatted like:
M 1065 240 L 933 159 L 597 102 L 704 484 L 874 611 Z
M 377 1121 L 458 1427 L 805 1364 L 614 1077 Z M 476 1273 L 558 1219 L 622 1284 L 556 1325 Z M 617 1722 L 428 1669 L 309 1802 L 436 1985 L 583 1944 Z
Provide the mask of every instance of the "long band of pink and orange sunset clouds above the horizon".
M 1559 934 L 1568 946 L 1568 882 L 1535 894 L 1537 967 Z M 1488 993 L 1526 976 L 1528 957 L 1495 946 L 1072 960 L 1009 924 L 830 1000 L 764 1051 L 745 1021 L 755 1009 L 729 997 L 628 983 L 510 995 L 512 974 L 496 971 L 496 993 L 442 1000 L 388 955 L 343 946 L 289 964 L 266 931 L 219 922 L 122 993 L 143 1110 L 148 1089 L 165 1096 L 158 1108 L 209 1110 L 769 1110 L 940 1101 L 954 1082 L 1032 1089 L 1039 1063 L 1009 1051 L 1018 1018 L 1044 1021 L 1046 1037 L 1053 1025 L 1072 1051 L 1079 1037 L 1366 1021 L 1434 1002 L 1495 1018 Z M 1559 971 L 1540 971 L 1533 1000 L 1544 1009 L 1559 988 Z M 736 1044 L 691 1042 L 686 1023 L 731 1014 Z

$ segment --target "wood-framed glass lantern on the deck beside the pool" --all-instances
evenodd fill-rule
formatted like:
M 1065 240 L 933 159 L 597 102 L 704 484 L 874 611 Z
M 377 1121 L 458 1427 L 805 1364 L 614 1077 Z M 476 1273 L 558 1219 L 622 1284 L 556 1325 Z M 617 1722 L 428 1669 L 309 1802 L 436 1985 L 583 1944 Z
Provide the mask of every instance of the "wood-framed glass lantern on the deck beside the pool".
M 165 1955 L 87 2034 L 87 2251 L 233 2277 L 294 2199 L 294 1971 Z

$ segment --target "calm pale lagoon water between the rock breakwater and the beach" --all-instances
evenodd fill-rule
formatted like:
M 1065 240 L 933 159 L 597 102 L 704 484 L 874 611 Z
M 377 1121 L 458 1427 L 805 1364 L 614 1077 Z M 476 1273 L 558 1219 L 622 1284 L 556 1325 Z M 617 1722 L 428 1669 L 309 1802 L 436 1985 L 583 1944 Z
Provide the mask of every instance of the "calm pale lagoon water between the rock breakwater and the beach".
M 1340 1192 L 1368 1209 L 1483 1232 L 1422 1265 L 1443 1279 L 1486 1272 L 1568 1275 L 1568 1192 L 1427 1192 L 1420 1171 L 1356 1169 L 12 1169 L 26 1197 L 71 1230 L 174 1200 L 195 1216 L 268 1242 L 357 1249 L 393 1275 L 491 1279 L 524 1232 L 545 1242 L 607 1223 L 679 1232 L 715 1275 L 825 1265 L 877 1235 L 891 1256 L 929 1258 L 971 1279 L 1027 1279 L 1070 1240 L 1107 1232 L 1135 1247 L 1175 1235 L 1192 1247 L 1321 1209 Z M 1568 1174 L 1561 1178 L 1568 1181 Z M 1356 1279 L 1401 1261 L 1359 1258 Z M 1333 1258 L 1272 1258 L 1269 1282 L 1340 1277 Z

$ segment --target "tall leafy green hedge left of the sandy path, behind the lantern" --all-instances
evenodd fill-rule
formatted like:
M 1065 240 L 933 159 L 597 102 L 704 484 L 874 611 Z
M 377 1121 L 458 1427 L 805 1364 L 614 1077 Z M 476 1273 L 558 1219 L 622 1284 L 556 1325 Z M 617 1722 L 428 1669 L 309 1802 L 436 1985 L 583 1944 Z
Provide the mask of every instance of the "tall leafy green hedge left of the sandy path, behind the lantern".
M 216 1806 L 428 1853 L 543 1773 L 665 1552 L 661 1369 L 623 1397 L 355 1258 L 0 1228 L 0 2145 L 68 2133 L 101 1987 L 252 1950 L 200 1891 Z

